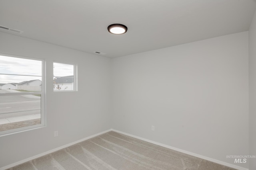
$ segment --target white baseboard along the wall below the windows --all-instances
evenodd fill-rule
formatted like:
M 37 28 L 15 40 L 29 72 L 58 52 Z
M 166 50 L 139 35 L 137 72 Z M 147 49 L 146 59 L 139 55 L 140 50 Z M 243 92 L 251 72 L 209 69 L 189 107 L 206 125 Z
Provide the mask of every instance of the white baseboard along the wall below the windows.
M 98 136 L 98 135 L 102 135 L 103 133 L 107 133 L 107 132 L 109 132 L 109 131 L 112 131 L 112 129 L 108 129 L 108 130 L 106 130 L 106 131 L 103 131 L 103 132 L 97 133 L 97 134 L 95 134 L 95 135 L 92 135 L 92 136 L 89 136 L 89 137 L 80 139 L 80 140 L 78 140 L 78 141 L 69 143 L 69 144 L 67 144 L 67 145 L 63 145 L 63 146 L 61 146 L 61 147 L 58 147 L 58 148 L 49 150 L 49 151 L 47 151 L 47 152 L 44 152 L 44 153 L 41 153 L 41 154 L 32 156 L 32 157 L 30 157 L 30 158 L 27 158 L 27 159 L 24 159 L 24 160 L 15 162 L 15 163 L 13 163 L 13 164 L 10 164 L 10 165 L 1 167 L 0 170 L 6 170 L 6 169 L 8 169 L 8 168 L 12 168 L 12 167 L 17 166 L 17 165 L 19 165 L 19 164 L 23 164 L 23 163 L 28 162 L 28 161 L 30 161 L 30 160 L 33 160 L 33 159 L 39 158 L 39 157 L 41 157 L 41 156 L 44 156 L 44 155 L 46 155 L 46 154 L 50 154 L 50 153 L 52 153 L 52 152 L 56 152 L 56 151 L 58 151 L 58 150 L 60 150 L 60 149 L 64 149 L 64 148 L 66 148 L 66 147 L 70 147 L 70 146 L 72 146 L 72 145 L 75 145 L 75 144 L 80 143 L 80 142 L 82 142 L 82 141 L 85 141 L 85 140 L 87 140 L 87 139 L 91 139 L 91 138 L 96 137 L 96 136 Z

